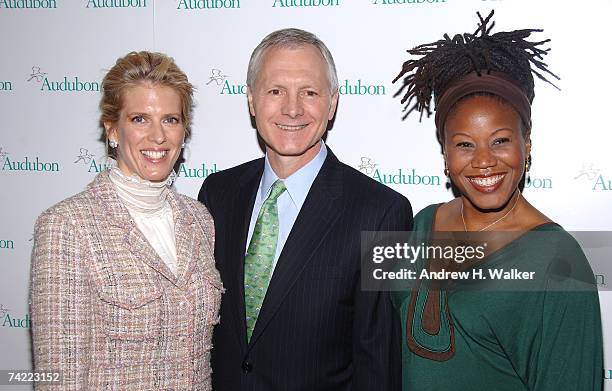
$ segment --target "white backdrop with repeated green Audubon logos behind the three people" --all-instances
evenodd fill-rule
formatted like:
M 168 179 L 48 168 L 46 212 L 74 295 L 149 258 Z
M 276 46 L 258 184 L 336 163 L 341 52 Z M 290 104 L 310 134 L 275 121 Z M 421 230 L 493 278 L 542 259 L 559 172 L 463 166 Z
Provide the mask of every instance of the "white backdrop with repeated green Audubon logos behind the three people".
M 561 91 L 536 85 L 525 196 L 567 230 L 612 231 L 609 0 L 0 0 L 0 369 L 30 367 L 36 217 L 109 164 L 97 106 L 117 57 L 165 52 L 197 86 L 193 137 L 176 182 L 195 197 L 211 172 L 262 155 L 245 96 L 253 48 L 279 28 L 314 32 L 332 51 L 340 80 L 328 145 L 418 211 L 452 195 L 433 119 L 402 121 L 390 81 L 406 49 L 472 32 L 476 11 L 491 9 L 494 31 L 543 28 L 535 38 L 552 38 L 546 61 L 562 77 Z M 608 358 L 602 375 L 612 390 L 612 294 L 605 291 L 612 276 L 597 274 Z

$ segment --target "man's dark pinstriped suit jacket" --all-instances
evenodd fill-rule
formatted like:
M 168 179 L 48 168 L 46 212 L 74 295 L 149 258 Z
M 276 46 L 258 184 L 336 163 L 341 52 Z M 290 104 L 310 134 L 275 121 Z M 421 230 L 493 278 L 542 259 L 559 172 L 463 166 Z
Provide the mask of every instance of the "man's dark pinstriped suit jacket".
M 408 200 L 328 150 L 282 250 L 250 342 L 244 255 L 264 160 L 206 178 L 226 287 L 213 336 L 213 389 L 399 390 L 399 319 L 389 294 L 365 292 L 361 231 L 412 228 Z

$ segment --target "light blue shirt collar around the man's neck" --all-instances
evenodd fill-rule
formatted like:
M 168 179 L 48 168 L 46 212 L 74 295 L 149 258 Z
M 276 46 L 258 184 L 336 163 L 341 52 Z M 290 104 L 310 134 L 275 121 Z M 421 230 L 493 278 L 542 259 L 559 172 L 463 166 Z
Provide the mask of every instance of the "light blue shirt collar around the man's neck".
M 285 182 L 285 187 L 287 188 L 289 197 L 291 197 L 291 200 L 298 209 L 302 208 L 302 205 L 306 200 L 306 196 L 308 195 L 308 191 L 310 190 L 310 186 L 312 186 L 312 183 L 321 170 L 321 167 L 323 167 L 325 158 L 327 158 L 327 147 L 325 146 L 323 140 L 321 140 L 320 143 L 321 149 L 314 159 L 309 161 L 304 167 L 285 178 L 283 181 Z M 261 178 L 261 187 L 259 189 L 260 199 L 262 202 L 268 197 L 268 194 L 270 194 L 270 189 L 277 179 L 278 175 L 276 175 L 272 169 L 272 166 L 270 166 L 268 155 L 266 155 L 264 172 Z

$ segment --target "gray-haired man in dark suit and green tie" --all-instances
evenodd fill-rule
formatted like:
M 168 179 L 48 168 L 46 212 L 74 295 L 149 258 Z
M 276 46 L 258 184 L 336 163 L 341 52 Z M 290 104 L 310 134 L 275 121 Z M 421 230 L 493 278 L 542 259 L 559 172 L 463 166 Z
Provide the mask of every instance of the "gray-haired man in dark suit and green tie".
M 399 390 L 399 319 L 388 293 L 361 289 L 360 239 L 411 229 L 410 203 L 323 142 L 338 80 L 316 36 L 268 35 L 247 85 L 266 156 L 209 176 L 198 197 L 226 288 L 213 389 Z

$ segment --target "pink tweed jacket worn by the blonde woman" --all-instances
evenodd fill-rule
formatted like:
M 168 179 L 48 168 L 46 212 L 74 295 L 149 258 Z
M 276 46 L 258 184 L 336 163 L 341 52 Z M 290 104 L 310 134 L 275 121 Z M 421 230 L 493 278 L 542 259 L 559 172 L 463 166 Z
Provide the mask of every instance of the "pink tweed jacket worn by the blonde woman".
M 36 222 L 31 314 L 36 370 L 57 390 L 210 390 L 223 286 L 207 209 L 170 192 L 176 276 L 117 197 L 108 172 Z M 47 386 L 39 386 L 38 389 Z

